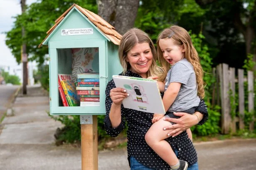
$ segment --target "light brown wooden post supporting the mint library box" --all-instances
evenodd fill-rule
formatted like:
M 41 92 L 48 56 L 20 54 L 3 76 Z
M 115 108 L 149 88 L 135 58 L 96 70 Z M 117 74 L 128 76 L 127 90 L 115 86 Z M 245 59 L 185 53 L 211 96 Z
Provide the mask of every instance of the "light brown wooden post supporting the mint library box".
M 97 115 L 80 115 L 81 170 L 98 170 Z

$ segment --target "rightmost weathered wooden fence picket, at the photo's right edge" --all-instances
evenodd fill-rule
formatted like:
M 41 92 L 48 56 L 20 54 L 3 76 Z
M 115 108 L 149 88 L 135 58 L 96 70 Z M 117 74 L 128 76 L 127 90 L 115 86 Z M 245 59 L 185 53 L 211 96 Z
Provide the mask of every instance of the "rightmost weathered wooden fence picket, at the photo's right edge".
M 254 113 L 254 73 L 252 71 L 247 72 L 248 82 L 248 111 Z M 254 116 L 252 117 L 254 120 Z M 249 130 L 254 130 L 254 121 L 249 125 Z

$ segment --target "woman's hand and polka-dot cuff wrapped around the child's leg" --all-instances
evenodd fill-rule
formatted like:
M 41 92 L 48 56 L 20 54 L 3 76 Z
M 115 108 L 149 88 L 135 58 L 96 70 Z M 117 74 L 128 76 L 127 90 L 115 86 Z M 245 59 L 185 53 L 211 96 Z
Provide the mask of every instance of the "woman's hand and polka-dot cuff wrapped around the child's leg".
M 177 136 L 181 132 L 187 130 L 188 128 L 194 125 L 197 125 L 197 124 L 203 125 L 204 122 L 206 122 L 209 118 L 208 112 L 207 112 L 207 106 L 205 105 L 204 100 L 200 101 L 199 106 L 193 115 L 189 113 L 174 113 L 174 115 L 180 116 L 180 118 L 174 119 L 174 118 L 165 117 L 166 121 L 176 123 L 174 125 L 164 127 L 164 130 L 171 130 L 167 132 L 167 134 L 170 134 L 171 136 Z

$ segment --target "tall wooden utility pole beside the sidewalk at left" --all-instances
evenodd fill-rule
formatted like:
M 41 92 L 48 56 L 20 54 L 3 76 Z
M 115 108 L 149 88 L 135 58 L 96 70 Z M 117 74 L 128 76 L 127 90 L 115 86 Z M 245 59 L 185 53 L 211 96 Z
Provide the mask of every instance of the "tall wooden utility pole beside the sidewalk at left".
M 21 11 L 22 14 L 25 13 L 26 11 L 26 0 L 20 0 L 20 5 L 21 5 Z M 25 38 L 25 27 L 22 25 L 22 63 L 23 63 L 23 94 L 27 94 L 27 46 L 26 46 L 26 41 L 24 41 Z

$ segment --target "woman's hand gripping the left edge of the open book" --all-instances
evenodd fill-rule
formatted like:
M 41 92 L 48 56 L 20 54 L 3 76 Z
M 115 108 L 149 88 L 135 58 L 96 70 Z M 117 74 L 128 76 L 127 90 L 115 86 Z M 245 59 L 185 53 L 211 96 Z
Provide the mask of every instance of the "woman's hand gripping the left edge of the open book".
M 109 96 L 114 104 L 121 105 L 123 99 L 130 96 L 130 94 L 126 93 L 126 89 L 114 88 L 110 90 Z

